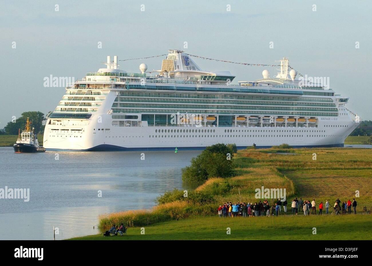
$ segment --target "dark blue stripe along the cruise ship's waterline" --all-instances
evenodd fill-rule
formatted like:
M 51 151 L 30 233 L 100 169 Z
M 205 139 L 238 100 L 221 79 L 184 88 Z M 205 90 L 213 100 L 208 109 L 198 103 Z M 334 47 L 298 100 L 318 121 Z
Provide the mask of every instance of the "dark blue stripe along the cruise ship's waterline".
M 248 146 L 251 147 L 251 146 Z M 271 148 L 272 146 L 256 146 L 256 148 Z M 329 144 L 329 145 L 305 145 L 305 146 L 292 146 L 293 148 L 330 148 L 330 147 L 344 147 L 343 143 Z M 48 148 L 47 151 L 174 151 L 176 147 L 151 147 L 151 148 L 126 148 L 116 145 L 101 144 L 86 150 L 64 150 Z M 206 147 L 177 147 L 179 151 L 197 151 L 205 150 Z M 238 150 L 247 148 L 247 146 L 237 146 Z

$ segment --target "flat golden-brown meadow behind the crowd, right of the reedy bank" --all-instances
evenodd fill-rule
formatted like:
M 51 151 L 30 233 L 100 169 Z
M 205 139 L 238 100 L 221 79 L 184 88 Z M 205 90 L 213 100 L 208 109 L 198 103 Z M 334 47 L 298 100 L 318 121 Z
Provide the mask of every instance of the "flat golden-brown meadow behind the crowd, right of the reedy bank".
M 359 206 L 372 204 L 372 150 L 357 148 L 301 148 L 296 155 L 275 154 L 275 150 L 245 150 L 239 156 L 255 160 L 252 167 L 279 169 L 295 184 L 294 196 L 334 202 L 357 198 Z M 292 149 L 291 149 L 292 152 Z M 314 153 L 316 160 L 313 160 Z M 261 169 L 260 168 L 260 169 Z

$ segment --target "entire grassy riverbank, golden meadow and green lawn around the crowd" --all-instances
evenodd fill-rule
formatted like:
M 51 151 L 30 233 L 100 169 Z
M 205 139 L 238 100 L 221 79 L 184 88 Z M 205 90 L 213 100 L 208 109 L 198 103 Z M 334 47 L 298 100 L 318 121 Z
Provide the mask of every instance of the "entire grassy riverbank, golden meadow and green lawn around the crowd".
M 328 199 L 333 205 L 336 198 L 341 201 L 356 198 L 358 190 L 358 211 L 363 206 L 368 206 L 369 209 L 372 206 L 371 149 L 246 149 L 238 151 L 233 160 L 235 176 L 212 178 L 195 189 L 196 192 L 211 195 L 208 201 L 195 202 L 183 197 L 172 201 L 173 194 L 182 193 L 174 191 L 170 193 L 169 202 L 157 205 L 149 211 L 102 215 L 101 228 L 120 222 L 132 226 L 129 227 L 128 237 L 105 239 L 304 239 L 303 236 L 312 227 L 321 230 L 314 239 L 372 239 L 372 215 L 289 215 L 236 219 L 216 217 L 217 207 L 226 201 L 258 202 L 254 190 L 261 186 L 285 188 L 289 206 L 294 197 L 310 201 L 315 199 L 317 205 Z M 269 199 L 269 203 L 272 205 L 273 199 Z M 178 215 L 186 219 L 176 221 Z M 138 233 L 141 227 L 147 228 L 145 235 Z M 231 230 L 234 228 L 237 234 L 226 235 L 226 227 Z M 225 229 L 220 232 L 216 228 Z M 335 228 L 340 228 L 340 232 L 335 234 Z M 311 237 L 313 236 L 310 235 L 309 239 Z

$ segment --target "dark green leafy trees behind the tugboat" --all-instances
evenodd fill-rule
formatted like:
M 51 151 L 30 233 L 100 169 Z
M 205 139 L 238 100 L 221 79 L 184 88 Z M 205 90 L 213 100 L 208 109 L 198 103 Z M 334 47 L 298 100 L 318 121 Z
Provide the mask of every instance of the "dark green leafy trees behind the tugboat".
M 27 118 L 29 118 L 29 120 L 32 122 L 31 127 L 35 128 L 36 134 L 44 131 L 44 126 L 42 125 L 43 121 L 45 120 L 44 113 L 38 111 L 29 111 L 23 112 L 15 122 L 8 122 L 8 124 L 4 127 L 6 134 L 17 135 L 18 129 L 23 130 L 25 128 Z

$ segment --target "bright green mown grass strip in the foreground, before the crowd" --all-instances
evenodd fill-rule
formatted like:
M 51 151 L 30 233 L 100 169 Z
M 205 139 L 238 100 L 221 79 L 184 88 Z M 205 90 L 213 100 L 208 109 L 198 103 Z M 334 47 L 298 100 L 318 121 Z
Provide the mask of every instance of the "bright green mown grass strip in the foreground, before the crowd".
M 71 240 L 370 240 L 372 215 L 195 217 L 128 228 L 127 235 L 88 235 Z M 227 227 L 231 228 L 228 235 Z M 313 227 L 317 234 L 312 234 Z

